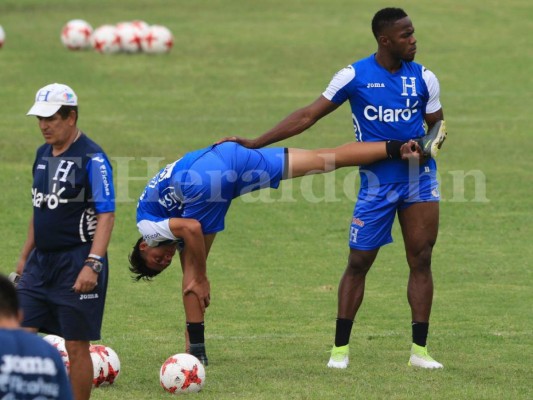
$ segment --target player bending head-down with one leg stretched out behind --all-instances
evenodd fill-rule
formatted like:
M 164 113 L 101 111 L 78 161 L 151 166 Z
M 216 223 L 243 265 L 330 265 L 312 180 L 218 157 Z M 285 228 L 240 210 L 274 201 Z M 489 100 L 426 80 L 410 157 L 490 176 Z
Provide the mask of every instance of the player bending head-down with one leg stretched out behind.
M 136 280 L 149 280 L 165 270 L 179 251 L 187 351 L 207 365 L 204 312 L 210 303 L 210 285 L 206 261 L 215 235 L 224 229 L 231 201 L 261 188 L 277 188 L 283 179 L 386 158 L 431 156 L 421 148 L 432 147 L 436 132 L 429 132 L 423 140 L 356 142 L 318 150 L 256 150 L 226 142 L 187 153 L 159 171 L 139 199 L 137 227 L 142 237 L 129 256 L 130 271 Z

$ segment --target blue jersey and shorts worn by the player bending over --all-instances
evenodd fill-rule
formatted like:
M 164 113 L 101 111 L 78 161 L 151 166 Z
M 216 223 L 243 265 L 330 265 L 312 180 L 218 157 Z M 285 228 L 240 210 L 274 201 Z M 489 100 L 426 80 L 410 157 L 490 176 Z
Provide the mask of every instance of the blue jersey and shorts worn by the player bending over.
M 149 246 L 177 240 L 170 219 L 200 222 L 204 234 L 224 230 L 233 199 L 261 188 L 277 188 L 287 149 L 247 149 L 225 142 L 187 153 L 150 180 L 137 204 L 137 227 Z

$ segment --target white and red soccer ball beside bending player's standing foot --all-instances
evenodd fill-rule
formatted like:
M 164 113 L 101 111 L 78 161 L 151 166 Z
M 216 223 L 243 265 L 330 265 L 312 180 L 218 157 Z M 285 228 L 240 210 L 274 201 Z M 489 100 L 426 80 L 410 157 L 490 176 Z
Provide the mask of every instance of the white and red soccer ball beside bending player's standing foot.
M 204 387 L 205 368 L 191 354 L 174 354 L 161 366 L 159 381 L 172 394 L 196 393 Z

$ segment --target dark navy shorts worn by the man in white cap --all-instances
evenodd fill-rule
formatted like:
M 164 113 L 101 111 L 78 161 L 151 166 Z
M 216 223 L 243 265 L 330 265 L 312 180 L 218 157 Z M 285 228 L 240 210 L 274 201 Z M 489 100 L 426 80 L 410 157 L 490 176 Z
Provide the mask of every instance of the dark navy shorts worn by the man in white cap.
M 107 291 L 107 260 L 98 285 L 89 293 L 72 286 L 83 268 L 91 243 L 65 251 L 34 249 L 26 261 L 17 287 L 24 312 L 22 326 L 37 328 L 65 340 L 99 340 Z

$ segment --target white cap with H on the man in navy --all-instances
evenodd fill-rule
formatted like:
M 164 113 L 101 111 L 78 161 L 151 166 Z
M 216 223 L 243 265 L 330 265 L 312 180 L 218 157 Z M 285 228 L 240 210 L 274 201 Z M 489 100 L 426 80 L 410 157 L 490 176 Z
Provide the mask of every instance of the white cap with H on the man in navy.
M 77 106 L 78 96 L 67 85 L 52 83 L 37 91 L 35 104 L 26 115 L 51 117 L 61 106 Z

